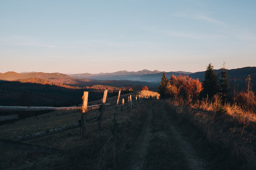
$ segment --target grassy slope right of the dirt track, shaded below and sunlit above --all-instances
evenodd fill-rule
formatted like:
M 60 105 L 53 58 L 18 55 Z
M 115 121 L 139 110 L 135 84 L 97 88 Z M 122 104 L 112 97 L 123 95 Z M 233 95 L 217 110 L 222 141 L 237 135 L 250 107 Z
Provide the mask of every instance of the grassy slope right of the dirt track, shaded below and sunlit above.
M 224 165 L 217 169 L 256 168 L 254 114 L 227 106 L 227 113 L 217 115 L 209 103 L 183 105 L 177 100 L 166 101 L 166 108 L 204 157 Z

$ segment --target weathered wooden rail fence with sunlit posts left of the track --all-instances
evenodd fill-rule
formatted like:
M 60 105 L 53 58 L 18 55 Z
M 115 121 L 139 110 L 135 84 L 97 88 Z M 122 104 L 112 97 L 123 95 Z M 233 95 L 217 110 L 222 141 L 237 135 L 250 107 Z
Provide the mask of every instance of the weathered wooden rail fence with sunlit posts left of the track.
M 91 121 L 98 121 L 96 129 L 100 130 L 102 121 L 105 119 L 108 119 L 112 116 L 114 119 L 116 119 L 116 114 L 119 111 L 118 108 L 119 108 L 119 98 L 120 98 L 121 91 L 119 91 L 118 96 L 117 96 L 116 107 L 115 107 L 114 113 L 103 117 L 105 106 L 111 105 L 110 103 L 106 103 L 107 94 L 108 94 L 108 90 L 105 90 L 104 94 L 103 94 L 103 98 L 102 98 L 102 104 L 100 104 L 100 105 L 87 106 L 88 92 L 84 91 L 84 95 L 82 96 L 83 102 L 82 102 L 81 107 L 0 106 L 0 111 L 68 111 L 68 110 L 80 110 L 81 111 L 81 120 L 79 120 L 78 123 L 75 123 L 73 125 L 58 127 L 55 129 L 45 130 L 45 131 L 38 132 L 38 133 L 27 134 L 25 136 L 17 136 L 17 137 L 11 138 L 9 140 L 0 139 L 0 147 L 9 147 L 12 149 L 21 149 L 21 150 L 33 150 L 33 151 L 45 152 L 45 153 L 52 153 L 52 152 L 58 151 L 58 149 L 55 149 L 55 148 L 41 147 L 38 145 L 26 144 L 26 143 L 22 143 L 22 142 L 31 140 L 31 139 L 40 138 L 43 136 L 48 136 L 48 135 L 55 134 L 55 133 L 60 133 L 60 132 L 78 128 L 78 127 L 80 127 L 80 138 L 82 138 L 82 136 L 84 134 L 85 127 L 86 127 L 86 123 L 91 122 Z M 122 108 L 121 108 L 122 113 L 124 113 L 124 110 L 126 110 L 124 107 L 125 104 L 127 104 L 128 112 L 134 107 L 133 103 L 136 102 L 136 107 L 137 107 L 137 105 L 138 105 L 137 96 L 135 96 L 134 99 L 135 100 L 133 101 L 131 95 L 128 96 L 127 103 L 125 103 L 125 99 L 122 99 Z M 144 98 L 141 98 L 141 96 L 139 96 L 139 104 L 144 101 L 143 99 Z M 157 99 L 157 96 L 151 96 L 150 99 L 155 100 L 155 99 Z M 149 101 L 149 98 L 147 101 Z M 96 109 L 100 109 L 99 116 L 93 116 L 93 117 L 87 118 L 88 111 L 93 111 Z

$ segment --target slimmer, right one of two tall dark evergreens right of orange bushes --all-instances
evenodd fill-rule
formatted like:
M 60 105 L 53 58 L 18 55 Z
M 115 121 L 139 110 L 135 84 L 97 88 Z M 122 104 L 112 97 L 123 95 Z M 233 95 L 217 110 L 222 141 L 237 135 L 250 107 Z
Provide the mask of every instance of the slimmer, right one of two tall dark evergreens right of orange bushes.
M 221 78 L 219 79 L 220 82 L 220 92 L 223 101 L 227 100 L 228 93 L 230 92 L 230 79 L 227 78 L 227 69 L 225 68 L 225 62 L 223 62 L 223 67 L 221 68 Z

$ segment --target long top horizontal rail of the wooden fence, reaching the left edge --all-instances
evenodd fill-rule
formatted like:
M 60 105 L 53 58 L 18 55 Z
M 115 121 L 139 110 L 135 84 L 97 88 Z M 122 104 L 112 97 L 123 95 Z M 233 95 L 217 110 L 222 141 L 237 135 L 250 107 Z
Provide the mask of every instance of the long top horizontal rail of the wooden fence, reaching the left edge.
M 110 104 L 105 104 L 110 105 Z M 99 109 L 100 105 L 87 106 L 87 111 Z M 29 106 L 0 106 L 0 111 L 68 111 L 68 110 L 79 110 L 82 106 L 77 107 L 29 107 Z

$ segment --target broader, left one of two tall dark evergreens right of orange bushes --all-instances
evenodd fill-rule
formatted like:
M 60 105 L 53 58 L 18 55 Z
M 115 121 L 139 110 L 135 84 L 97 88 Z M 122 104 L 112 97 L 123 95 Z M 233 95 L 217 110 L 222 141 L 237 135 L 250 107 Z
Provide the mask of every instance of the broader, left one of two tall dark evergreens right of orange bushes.
M 212 63 L 209 63 L 207 70 L 204 72 L 202 93 L 204 97 L 208 95 L 209 98 L 218 93 L 218 76 L 215 74 Z

